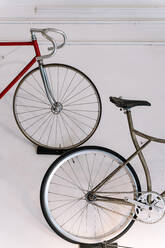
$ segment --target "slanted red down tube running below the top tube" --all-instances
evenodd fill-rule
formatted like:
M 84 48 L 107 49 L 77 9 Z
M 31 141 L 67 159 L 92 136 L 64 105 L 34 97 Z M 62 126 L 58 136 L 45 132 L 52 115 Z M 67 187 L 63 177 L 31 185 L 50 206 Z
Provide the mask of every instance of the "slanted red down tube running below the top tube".
M 0 93 L 0 99 L 17 83 L 17 81 L 30 69 L 30 67 L 36 62 L 34 57 L 23 70 L 12 80 L 12 82 Z

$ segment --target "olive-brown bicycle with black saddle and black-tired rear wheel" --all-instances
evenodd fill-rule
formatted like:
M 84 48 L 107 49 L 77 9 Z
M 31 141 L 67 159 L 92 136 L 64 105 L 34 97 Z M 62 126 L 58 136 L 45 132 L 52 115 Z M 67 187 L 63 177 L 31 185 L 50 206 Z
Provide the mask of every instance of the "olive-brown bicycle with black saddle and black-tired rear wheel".
M 43 215 L 49 226 L 72 243 L 113 242 L 136 221 L 155 223 L 165 214 L 165 191 L 152 191 L 143 149 L 152 141 L 165 143 L 134 129 L 131 108 L 150 106 L 147 101 L 110 97 L 124 110 L 135 152 L 128 159 L 108 148 L 79 147 L 63 154 L 47 170 L 40 191 Z M 137 136 L 147 141 L 139 145 Z M 147 191 L 141 190 L 130 161 L 139 156 Z

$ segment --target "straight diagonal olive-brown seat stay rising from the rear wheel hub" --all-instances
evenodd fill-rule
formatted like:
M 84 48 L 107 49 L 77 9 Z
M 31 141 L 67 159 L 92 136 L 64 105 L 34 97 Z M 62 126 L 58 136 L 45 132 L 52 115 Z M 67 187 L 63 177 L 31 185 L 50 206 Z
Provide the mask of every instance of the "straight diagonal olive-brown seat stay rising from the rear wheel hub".
M 106 178 L 104 178 L 96 187 L 91 190 L 91 193 L 94 194 L 98 189 L 100 189 L 108 180 L 110 180 L 118 171 L 124 168 L 129 161 L 131 161 L 137 154 L 139 154 L 151 140 L 148 140 L 144 145 L 142 145 L 136 152 L 134 152 L 123 164 L 119 165 L 113 172 L 111 172 Z

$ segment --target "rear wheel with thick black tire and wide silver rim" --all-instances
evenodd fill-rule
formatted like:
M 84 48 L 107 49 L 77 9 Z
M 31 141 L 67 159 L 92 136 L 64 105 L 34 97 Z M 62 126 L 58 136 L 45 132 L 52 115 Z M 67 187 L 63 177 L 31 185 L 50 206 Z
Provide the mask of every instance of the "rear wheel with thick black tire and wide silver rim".
M 138 177 L 127 164 L 89 200 L 89 192 L 125 159 L 103 147 L 80 147 L 59 157 L 46 172 L 40 191 L 43 215 L 65 240 L 79 244 L 113 242 L 134 223 L 134 207 L 97 201 L 107 197 L 137 199 Z

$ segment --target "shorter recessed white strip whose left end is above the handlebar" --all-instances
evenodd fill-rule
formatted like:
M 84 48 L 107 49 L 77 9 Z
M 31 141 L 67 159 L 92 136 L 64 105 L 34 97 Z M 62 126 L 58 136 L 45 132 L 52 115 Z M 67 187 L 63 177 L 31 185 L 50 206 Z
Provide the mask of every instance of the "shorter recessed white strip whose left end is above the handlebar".
M 68 7 L 36 6 L 35 16 L 57 20 L 138 21 L 165 20 L 165 7 Z

